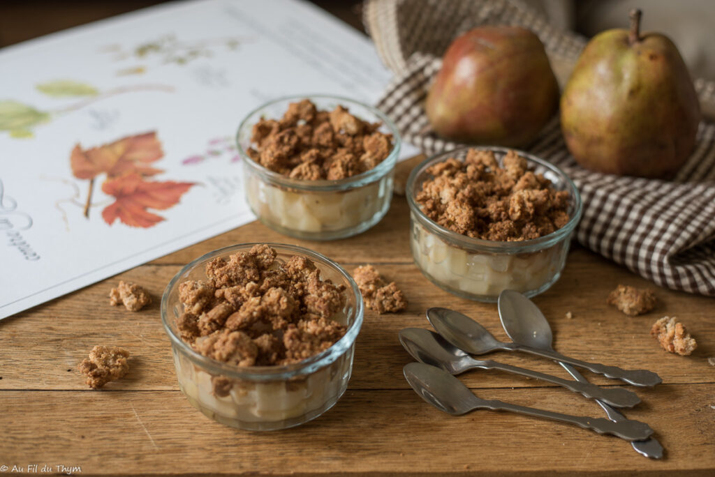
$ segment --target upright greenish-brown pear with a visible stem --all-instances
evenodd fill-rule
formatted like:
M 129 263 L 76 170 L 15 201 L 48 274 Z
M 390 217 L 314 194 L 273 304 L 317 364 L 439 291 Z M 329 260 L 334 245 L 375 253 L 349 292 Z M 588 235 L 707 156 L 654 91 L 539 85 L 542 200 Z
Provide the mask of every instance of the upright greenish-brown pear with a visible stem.
M 631 29 L 593 37 L 561 96 L 561 129 L 578 164 L 593 171 L 669 177 L 695 145 L 700 106 L 673 42 Z

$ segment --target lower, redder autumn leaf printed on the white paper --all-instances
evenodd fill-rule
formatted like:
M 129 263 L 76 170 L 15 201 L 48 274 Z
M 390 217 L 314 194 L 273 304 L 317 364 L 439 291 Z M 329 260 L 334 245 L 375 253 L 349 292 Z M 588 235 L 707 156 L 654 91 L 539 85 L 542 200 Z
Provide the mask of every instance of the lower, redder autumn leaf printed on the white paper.
M 136 172 L 108 179 L 102 184 L 102 191 L 117 200 L 104 208 L 102 218 L 109 225 L 119 219 L 122 224 L 132 227 L 152 227 L 163 221 L 164 217 L 152 214 L 147 209 L 169 209 L 193 185 L 192 182 L 144 181 Z

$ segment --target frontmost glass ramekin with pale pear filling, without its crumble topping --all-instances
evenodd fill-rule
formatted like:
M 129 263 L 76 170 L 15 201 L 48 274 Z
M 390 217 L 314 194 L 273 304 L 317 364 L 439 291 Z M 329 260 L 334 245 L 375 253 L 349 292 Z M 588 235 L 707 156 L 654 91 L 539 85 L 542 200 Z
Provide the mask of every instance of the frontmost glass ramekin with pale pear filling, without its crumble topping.
M 226 426 L 273 431 L 317 418 L 345 392 L 352 373 L 355 338 L 363 325 L 363 298 L 350 274 L 330 258 L 299 246 L 267 243 L 277 251 L 277 260 L 305 256 L 320 268 L 323 280 L 345 286 L 345 307 L 332 317 L 347 326 L 345 336 L 322 353 L 287 366 L 239 368 L 202 356 L 182 340 L 177 329 L 176 318 L 184 311 L 179 284 L 206 280 L 204 268 L 213 258 L 227 258 L 254 245 L 219 248 L 184 266 L 162 296 L 162 323 L 172 342 L 179 387 L 192 406 Z

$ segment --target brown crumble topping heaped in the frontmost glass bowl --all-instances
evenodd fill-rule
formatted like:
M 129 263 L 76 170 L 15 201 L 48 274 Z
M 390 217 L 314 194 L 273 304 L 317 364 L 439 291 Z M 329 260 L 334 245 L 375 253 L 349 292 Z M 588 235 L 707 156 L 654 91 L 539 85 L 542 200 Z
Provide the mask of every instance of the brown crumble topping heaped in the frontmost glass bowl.
M 320 278 L 308 258 L 276 260 L 256 245 L 206 266 L 206 281 L 179 284 L 184 341 L 235 366 L 296 363 L 332 346 L 346 327 L 330 319 L 345 306 L 345 287 Z

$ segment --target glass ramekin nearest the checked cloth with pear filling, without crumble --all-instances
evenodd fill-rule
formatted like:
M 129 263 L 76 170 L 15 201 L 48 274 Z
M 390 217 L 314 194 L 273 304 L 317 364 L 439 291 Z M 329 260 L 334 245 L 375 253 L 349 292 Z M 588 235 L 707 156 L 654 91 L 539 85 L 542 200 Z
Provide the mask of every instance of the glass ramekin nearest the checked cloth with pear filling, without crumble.
M 546 291 L 561 276 L 568 246 L 581 219 L 581 196 L 571 179 L 556 166 L 523 151 L 528 168 L 543 174 L 557 191 L 568 191 L 568 223 L 538 239 L 489 241 L 473 239 L 436 224 L 425 216 L 415 195 L 430 179 L 427 169 L 453 157 L 464 161 L 469 149 L 493 151 L 503 166 L 510 150 L 502 147 L 465 147 L 437 154 L 413 169 L 408 179 L 410 248 L 415 264 L 432 283 L 457 296 L 495 302 L 503 290 L 516 290 L 531 297 Z

